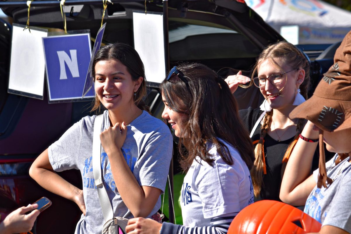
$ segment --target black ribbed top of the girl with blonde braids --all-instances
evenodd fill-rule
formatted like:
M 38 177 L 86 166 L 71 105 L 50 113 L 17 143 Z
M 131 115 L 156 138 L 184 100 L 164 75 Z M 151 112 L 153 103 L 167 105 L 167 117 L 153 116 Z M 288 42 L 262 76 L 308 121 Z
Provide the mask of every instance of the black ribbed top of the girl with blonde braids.
M 244 126 L 247 128 L 249 133 L 252 131 L 252 128 L 259 116 L 263 111 L 260 109 L 244 109 L 239 111 L 239 117 L 241 121 L 243 121 Z M 261 124 L 259 124 L 256 128 L 256 131 L 252 135 L 252 141 L 256 141 L 260 139 L 260 129 Z M 266 134 L 264 138 L 264 154 L 265 154 L 265 162 L 266 162 L 266 171 L 267 174 L 263 175 L 263 185 L 261 188 L 261 199 L 269 199 L 281 201 L 279 199 L 280 185 L 282 183 L 282 160 L 284 154 L 287 150 L 287 147 L 293 141 L 293 137 L 284 141 L 276 141 L 271 138 L 270 135 Z M 318 150 L 317 150 L 318 151 Z M 318 154 L 317 151 L 314 153 L 313 158 L 317 159 L 318 162 Z M 317 164 L 318 167 L 318 164 Z

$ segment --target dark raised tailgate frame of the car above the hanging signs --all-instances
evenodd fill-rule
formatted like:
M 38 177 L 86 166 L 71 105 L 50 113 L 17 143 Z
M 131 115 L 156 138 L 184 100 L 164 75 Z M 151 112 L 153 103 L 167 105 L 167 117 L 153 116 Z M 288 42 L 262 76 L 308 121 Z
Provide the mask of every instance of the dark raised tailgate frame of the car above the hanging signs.
M 30 25 L 42 27 L 62 28 L 62 18 L 58 1 L 53 1 L 52 6 L 35 6 L 40 2 L 32 2 L 30 10 Z M 74 12 L 77 6 L 70 6 L 69 0 L 65 3 L 65 8 L 72 14 L 67 15 L 67 30 L 78 30 L 89 28 L 92 36 L 96 35 L 102 17 L 102 2 L 93 1 L 95 4 L 85 4 L 80 12 Z M 84 0 L 75 2 L 85 3 Z M 124 30 L 131 30 L 132 12 L 135 10 L 145 11 L 144 1 L 139 2 L 120 2 L 113 1 L 114 4 L 108 4 L 105 21 L 107 22 L 107 31 L 105 40 L 113 42 L 116 38 L 120 41 L 130 42 L 129 35 L 121 35 Z M 4 4 L 19 4 L 20 1 L 0 2 L 3 11 L 14 18 L 19 24 L 26 24 L 28 7 L 25 6 L 7 6 Z M 77 5 L 77 3 L 76 3 Z M 162 1 L 152 1 L 146 4 L 147 11 L 162 12 Z M 192 22 L 193 24 L 207 24 L 214 27 L 228 28 L 240 32 L 252 41 L 257 47 L 262 47 L 277 40 L 283 40 L 274 29 L 267 25 L 261 17 L 245 3 L 230 0 L 217 1 L 168 1 L 168 14 L 170 20 L 178 22 Z M 108 28 L 110 27 L 110 30 Z M 111 28 L 117 30 L 111 30 Z M 171 28 L 170 28 L 171 29 Z

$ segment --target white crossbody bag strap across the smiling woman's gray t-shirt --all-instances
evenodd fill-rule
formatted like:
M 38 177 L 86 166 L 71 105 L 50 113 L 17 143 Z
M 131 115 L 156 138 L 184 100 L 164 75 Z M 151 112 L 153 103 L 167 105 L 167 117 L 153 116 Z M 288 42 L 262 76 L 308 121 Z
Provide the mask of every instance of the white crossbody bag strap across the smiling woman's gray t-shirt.
M 104 115 L 98 115 L 94 121 L 94 135 L 93 135 L 93 174 L 95 185 L 98 190 L 100 205 L 102 209 L 102 214 L 104 215 L 104 220 L 107 222 L 108 220 L 113 218 L 113 210 L 112 205 L 110 203 L 110 199 L 108 198 L 106 189 L 104 187 L 104 183 L 101 176 L 101 142 L 100 142 L 100 133 L 102 120 Z

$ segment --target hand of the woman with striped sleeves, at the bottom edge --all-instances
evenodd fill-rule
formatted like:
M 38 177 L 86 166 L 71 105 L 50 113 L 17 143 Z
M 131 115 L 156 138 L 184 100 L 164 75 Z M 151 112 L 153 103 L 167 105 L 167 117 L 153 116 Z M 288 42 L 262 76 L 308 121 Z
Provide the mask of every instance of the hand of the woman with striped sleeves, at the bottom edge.
M 130 234 L 159 234 L 161 227 L 161 223 L 152 219 L 133 218 L 128 220 L 126 232 Z

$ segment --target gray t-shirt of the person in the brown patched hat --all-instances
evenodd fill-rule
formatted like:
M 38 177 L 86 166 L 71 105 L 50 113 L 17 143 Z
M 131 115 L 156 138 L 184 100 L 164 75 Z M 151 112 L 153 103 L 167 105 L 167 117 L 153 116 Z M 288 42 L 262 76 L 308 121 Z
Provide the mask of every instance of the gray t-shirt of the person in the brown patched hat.
M 351 163 L 347 157 L 335 166 L 336 154 L 326 163 L 327 175 L 333 180 L 327 188 L 314 187 L 307 198 L 304 212 L 322 226 L 331 225 L 351 233 Z M 313 172 L 317 182 L 318 169 Z

